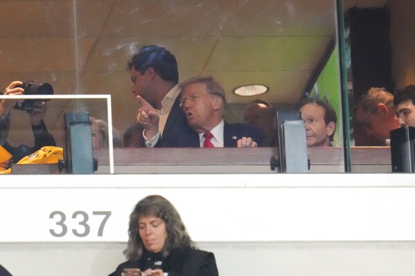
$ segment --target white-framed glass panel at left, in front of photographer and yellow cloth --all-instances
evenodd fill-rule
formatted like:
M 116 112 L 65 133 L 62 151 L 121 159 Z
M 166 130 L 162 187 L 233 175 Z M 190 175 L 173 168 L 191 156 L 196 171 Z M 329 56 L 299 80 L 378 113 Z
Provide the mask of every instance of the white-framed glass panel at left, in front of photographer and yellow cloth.
M 8 96 L 0 95 L 0 100 L 3 99 L 11 101 Z M 111 124 L 107 123 L 112 122 L 111 114 L 108 113 L 109 103 L 110 95 L 20 96 L 16 104 L 18 108 L 12 110 L 8 120 L 10 135 L 1 136 L 1 139 L 6 140 L 2 141 L 0 163 L 7 163 L 7 159 L 11 158 L 12 164 L 1 166 L 0 172 L 113 173 L 112 147 L 121 147 L 121 137 L 112 132 Z M 105 120 L 94 117 L 100 113 L 105 114 Z M 1 127 L 3 130 L 3 125 Z M 30 139 L 21 140 L 21 136 Z M 8 158 L 3 160 L 4 156 Z M 22 166 L 38 164 L 48 165 Z M 4 170 L 9 167 L 11 170 Z

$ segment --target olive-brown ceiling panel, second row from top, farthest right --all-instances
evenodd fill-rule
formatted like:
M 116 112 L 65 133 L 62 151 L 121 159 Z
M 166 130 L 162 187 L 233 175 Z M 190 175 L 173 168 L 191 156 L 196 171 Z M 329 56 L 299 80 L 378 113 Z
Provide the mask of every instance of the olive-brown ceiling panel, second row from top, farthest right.
M 222 37 L 209 59 L 206 70 L 312 70 L 329 41 L 330 37 L 326 36 Z

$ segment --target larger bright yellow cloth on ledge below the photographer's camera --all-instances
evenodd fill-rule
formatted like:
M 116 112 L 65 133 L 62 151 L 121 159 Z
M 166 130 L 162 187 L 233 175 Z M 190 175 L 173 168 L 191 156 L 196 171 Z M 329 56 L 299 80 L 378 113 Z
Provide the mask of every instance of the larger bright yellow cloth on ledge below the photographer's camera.
M 62 147 L 46 146 L 33 154 L 24 156 L 17 164 L 56 164 L 63 158 Z M 10 174 L 10 172 L 11 169 L 7 169 L 6 171 L 0 171 L 0 174 Z

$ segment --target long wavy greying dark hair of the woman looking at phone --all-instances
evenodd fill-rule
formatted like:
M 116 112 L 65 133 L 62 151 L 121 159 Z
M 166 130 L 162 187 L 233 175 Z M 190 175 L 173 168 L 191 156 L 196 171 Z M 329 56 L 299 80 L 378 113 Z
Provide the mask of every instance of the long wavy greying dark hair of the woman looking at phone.
M 124 250 L 128 260 L 138 260 L 143 256 L 144 246 L 139 234 L 139 218 L 151 215 L 166 223 L 167 238 L 161 249 L 163 256 L 168 256 L 172 250 L 196 248 L 173 204 L 163 196 L 150 195 L 141 199 L 130 214 L 129 239 L 127 249 Z

